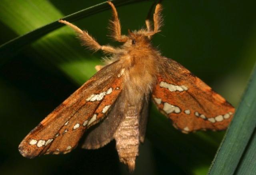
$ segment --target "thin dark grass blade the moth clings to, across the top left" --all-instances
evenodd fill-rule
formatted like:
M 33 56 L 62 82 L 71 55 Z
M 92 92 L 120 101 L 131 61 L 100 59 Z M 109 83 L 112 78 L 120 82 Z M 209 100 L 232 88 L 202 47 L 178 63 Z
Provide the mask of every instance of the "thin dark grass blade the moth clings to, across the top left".
M 113 0 L 116 6 L 122 6 L 122 5 L 130 4 L 132 2 L 140 2 L 140 1 L 143 1 L 143 0 Z M 96 4 L 89 8 L 85 8 L 84 10 L 80 10 L 78 12 L 65 16 L 62 19 L 73 22 L 78 19 L 90 16 L 92 14 L 102 12 L 109 8 L 110 6 L 108 5 L 107 2 L 102 2 L 100 4 Z M 15 52 L 17 52 L 20 48 L 22 48 L 22 46 L 37 40 L 38 38 L 48 34 L 49 32 L 52 32 L 53 30 L 60 28 L 61 26 L 63 26 L 63 24 L 60 24 L 58 20 L 56 20 L 54 22 L 46 24 L 45 26 L 32 30 L 31 32 L 28 32 L 22 36 L 14 38 L 13 40 L 6 42 L 5 44 L 2 44 L 0 46 L 0 59 L 12 56 L 13 54 L 15 54 Z

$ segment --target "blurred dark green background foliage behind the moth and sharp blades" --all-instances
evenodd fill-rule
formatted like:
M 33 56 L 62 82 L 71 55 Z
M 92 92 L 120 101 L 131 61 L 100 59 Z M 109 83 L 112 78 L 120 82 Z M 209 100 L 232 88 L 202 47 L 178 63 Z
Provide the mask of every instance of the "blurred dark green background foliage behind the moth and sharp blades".
M 0 44 L 100 2 L 0 0 Z M 145 26 L 151 4 L 144 1 L 117 8 L 124 34 Z M 253 1 L 164 0 L 163 6 L 165 25 L 154 36 L 154 46 L 236 106 L 256 61 Z M 54 10 L 59 11 L 58 17 Z M 75 24 L 100 44 L 117 45 L 106 36 L 110 17 L 106 10 Z M 18 152 L 26 134 L 96 72 L 94 66 L 102 56 L 100 52 L 91 56 L 65 27 L 14 52 L 13 57 L 1 58 L 0 174 L 127 174 L 114 142 L 98 150 L 77 148 L 67 155 L 32 160 Z M 206 174 L 223 132 L 185 135 L 151 108 L 147 139 L 140 147 L 134 174 Z

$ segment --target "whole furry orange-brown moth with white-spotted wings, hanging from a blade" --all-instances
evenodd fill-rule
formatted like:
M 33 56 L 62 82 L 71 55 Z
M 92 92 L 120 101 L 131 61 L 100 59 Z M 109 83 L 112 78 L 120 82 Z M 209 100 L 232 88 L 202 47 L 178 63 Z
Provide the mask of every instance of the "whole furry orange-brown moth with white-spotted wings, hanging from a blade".
M 102 50 L 108 59 L 23 139 L 18 149 L 24 157 L 69 153 L 94 125 L 82 148 L 98 149 L 114 139 L 120 161 L 133 171 L 145 138 L 150 99 L 183 133 L 228 127 L 234 107 L 150 43 L 163 24 L 162 5 L 156 4 L 153 15 L 149 12 L 145 29 L 122 35 L 116 8 L 108 4 L 113 12 L 111 37 L 122 43 L 120 47 L 101 46 L 87 31 L 59 20 L 78 34 L 84 46 Z

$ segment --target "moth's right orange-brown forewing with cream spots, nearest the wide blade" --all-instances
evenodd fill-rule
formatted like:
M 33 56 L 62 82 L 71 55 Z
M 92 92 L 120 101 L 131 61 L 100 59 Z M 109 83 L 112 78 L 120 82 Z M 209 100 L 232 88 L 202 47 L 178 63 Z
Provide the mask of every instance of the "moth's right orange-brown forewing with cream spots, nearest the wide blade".
M 222 96 L 174 60 L 162 58 L 162 71 L 152 93 L 154 103 L 184 133 L 223 130 L 235 109 Z

